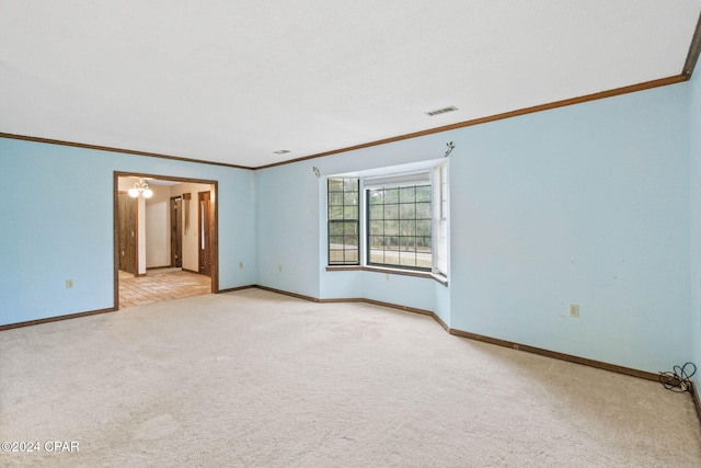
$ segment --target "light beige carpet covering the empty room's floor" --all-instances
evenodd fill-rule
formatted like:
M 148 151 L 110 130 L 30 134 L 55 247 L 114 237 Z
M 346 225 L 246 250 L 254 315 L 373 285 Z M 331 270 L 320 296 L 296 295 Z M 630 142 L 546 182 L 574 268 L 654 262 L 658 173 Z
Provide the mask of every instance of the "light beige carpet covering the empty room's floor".
M 1 466 L 698 467 L 688 393 L 258 289 L 0 332 Z M 45 443 L 79 443 L 55 453 Z

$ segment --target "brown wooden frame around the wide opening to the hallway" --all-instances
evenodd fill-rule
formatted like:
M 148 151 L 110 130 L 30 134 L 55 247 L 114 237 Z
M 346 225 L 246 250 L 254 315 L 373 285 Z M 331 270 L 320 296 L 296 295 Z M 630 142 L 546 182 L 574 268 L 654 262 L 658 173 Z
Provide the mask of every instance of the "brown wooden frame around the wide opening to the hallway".
M 211 186 L 211 201 L 214 203 L 214 232 L 212 232 L 212 250 L 211 250 L 211 276 L 209 276 L 211 281 L 210 290 L 212 294 L 219 294 L 219 203 L 218 196 L 219 193 L 219 181 L 216 180 L 206 180 L 206 179 L 192 179 L 192 178 L 179 178 L 174 175 L 163 175 L 163 174 L 145 174 L 140 172 L 122 172 L 114 171 L 113 173 L 113 214 L 112 214 L 112 222 L 113 222 L 113 235 L 112 242 L 114 246 L 114 310 L 119 310 L 119 212 L 118 212 L 118 192 L 119 192 L 119 178 L 145 178 L 145 179 L 157 179 L 162 181 L 173 181 L 181 183 L 196 183 L 196 184 L 209 184 Z M 137 219 L 138 222 L 138 219 Z M 137 247 L 137 259 L 138 259 L 138 247 Z

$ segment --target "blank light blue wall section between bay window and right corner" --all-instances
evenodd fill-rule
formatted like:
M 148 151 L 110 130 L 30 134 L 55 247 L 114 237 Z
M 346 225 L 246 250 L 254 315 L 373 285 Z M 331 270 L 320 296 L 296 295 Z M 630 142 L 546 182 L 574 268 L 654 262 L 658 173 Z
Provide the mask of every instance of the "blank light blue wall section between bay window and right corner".
M 451 326 L 648 372 L 688 359 L 687 100 L 673 85 L 456 135 Z

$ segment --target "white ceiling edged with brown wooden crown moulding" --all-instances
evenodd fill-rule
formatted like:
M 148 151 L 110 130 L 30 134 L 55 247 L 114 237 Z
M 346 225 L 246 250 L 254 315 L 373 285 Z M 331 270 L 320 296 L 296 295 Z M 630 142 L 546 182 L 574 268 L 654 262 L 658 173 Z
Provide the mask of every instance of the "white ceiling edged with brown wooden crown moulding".
M 699 0 L 0 0 L 0 133 L 255 168 L 678 76 L 700 11 Z M 448 105 L 459 111 L 424 114 Z

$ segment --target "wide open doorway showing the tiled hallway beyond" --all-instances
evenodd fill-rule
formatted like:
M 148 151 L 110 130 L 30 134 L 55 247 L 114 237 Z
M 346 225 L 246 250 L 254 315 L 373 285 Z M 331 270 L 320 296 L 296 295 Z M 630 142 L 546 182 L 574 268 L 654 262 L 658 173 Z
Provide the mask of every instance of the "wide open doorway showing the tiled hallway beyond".
M 126 193 L 139 178 L 152 197 Z M 218 293 L 217 181 L 124 172 L 114 180 L 115 309 Z M 128 206 L 136 226 L 124 219 Z M 134 277 L 119 274 L 127 256 Z

